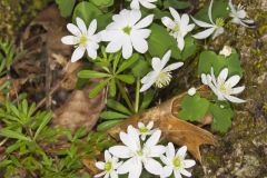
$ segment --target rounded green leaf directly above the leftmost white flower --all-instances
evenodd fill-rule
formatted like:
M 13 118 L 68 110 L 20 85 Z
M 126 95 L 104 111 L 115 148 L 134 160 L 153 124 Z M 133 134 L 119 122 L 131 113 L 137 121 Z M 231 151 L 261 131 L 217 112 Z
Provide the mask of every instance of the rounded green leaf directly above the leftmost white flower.
M 72 21 L 76 21 L 76 18 L 79 17 L 89 26 L 90 22 L 100 14 L 102 14 L 101 10 L 93 3 L 82 1 L 76 6 Z

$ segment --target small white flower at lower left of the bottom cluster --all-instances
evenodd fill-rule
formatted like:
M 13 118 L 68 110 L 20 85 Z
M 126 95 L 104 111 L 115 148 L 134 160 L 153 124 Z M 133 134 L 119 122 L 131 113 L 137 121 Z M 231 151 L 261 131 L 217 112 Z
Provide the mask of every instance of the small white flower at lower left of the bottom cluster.
M 118 178 L 117 170 L 121 162 L 118 162 L 118 158 L 111 157 L 108 150 L 105 151 L 105 162 L 98 161 L 96 162 L 96 167 L 100 170 L 103 170 L 101 174 L 96 175 L 95 177 L 105 178 Z

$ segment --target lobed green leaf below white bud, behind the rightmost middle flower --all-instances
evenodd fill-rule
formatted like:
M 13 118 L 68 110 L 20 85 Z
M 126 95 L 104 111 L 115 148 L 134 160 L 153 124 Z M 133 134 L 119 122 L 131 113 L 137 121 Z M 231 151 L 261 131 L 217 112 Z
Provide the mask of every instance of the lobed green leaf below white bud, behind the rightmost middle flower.
M 218 76 L 224 68 L 228 68 L 229 76 L 243 76 L 239 55 L 235 49 L 233 49 L 233 53 L 228 58 L 218 56 L 214 51 L 201 52 L 198 65 L 198 73 L 210 73 L 211 67 L 214 68 L 215 76 Z

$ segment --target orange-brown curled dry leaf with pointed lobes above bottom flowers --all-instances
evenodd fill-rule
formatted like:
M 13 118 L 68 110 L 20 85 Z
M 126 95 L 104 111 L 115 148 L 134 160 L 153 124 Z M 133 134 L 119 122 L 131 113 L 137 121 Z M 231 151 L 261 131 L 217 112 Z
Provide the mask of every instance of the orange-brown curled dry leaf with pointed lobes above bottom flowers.
M 209 93 L 205 87 L 198 88 L 198 91 L 202 97 Z M 137 126 L 138 121 L 147 123 L 152 120 L 155 127 L 162 130 L 167 140 L 179 146 L 187 146 L 189 152 L 201 162 L 199 147 L 201 145 L 216 145 L 217 141 L 209 131 L 177 118 L 184 95 L 186 95 L 186 92 L 142 113 L 135 115 L 111 128 L 108 132 L 118 139 L 119 132 L 126 130 L 129 125 Z M 210 115 L 206 117 L 210 117 Z

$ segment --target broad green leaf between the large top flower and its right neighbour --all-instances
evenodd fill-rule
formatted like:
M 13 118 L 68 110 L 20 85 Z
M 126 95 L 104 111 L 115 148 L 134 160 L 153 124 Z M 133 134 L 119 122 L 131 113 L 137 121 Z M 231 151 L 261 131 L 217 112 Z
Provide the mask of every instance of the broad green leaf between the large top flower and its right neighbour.
M 172 58 L 181 58 L 180 50 L 177 47 L 177 41 L 164 27 L 152 23 L 150 29 L 151 34 L 148 39 L 148 51 L 152 57 L 161 58 L 168 50 L 171 50 Z

